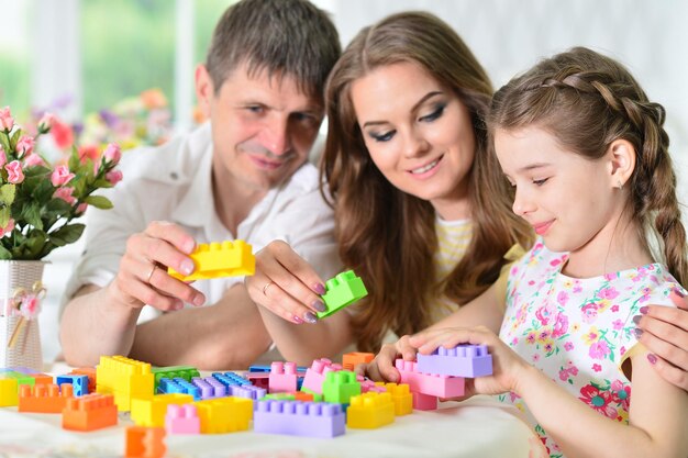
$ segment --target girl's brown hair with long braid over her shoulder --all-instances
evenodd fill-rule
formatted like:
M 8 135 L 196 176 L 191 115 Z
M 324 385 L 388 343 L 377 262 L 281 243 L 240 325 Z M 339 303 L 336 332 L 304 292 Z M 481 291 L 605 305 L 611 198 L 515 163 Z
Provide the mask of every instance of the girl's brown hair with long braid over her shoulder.
M 623 138 L 635 148 L 629 180 L 629 211 L 658 238 L 663 261 L 684 287 L 688 284 L 686 230 L 676 198 L 676 174 L 664 108 L 647 96 L 618 62 L 585 47 L 544 59 L 512 79 L 492 99 L 490 132 L 537 124 L 568 149 L 602 157 Z

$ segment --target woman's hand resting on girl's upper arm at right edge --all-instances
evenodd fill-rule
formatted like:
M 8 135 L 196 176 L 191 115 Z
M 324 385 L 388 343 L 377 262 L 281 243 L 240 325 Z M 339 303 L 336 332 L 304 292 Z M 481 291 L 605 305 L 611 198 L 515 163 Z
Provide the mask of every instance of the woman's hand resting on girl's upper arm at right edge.
M 655 356 L 655 370 L 662 378 L 688 391 L 688 298 L 674 290 L 672 300 L 678 309 L 641 308 L 639 340 Z

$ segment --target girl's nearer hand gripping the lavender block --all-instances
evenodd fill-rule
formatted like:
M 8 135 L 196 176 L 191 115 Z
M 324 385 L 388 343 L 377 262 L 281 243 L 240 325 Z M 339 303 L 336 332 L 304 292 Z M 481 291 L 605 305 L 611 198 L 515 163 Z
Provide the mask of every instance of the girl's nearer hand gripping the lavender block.
M 492 355 L 492 375 L 466 379 L 466 395 L 464 398 L 469 398 L 473 394 L 518 392 L 521 373 L 530 368 L 530 365 L 515 351 L 484 326 L 424 331 L 409 337 L 409 344 L 418 348 L 422 355 L 429 355 L 440 346 L 453 348 L 458 344 L 487 345 L 490 355 Z

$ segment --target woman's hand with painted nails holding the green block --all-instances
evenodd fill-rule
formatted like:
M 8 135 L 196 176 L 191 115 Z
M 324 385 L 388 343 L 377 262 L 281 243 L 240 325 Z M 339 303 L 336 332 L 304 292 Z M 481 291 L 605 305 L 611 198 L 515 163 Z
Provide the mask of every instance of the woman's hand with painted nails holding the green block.
M 282 319 L 317 323 L 326 310 L 325 286 L 313 268 L 285 242 L 270 242 L 256 253 L 256 272 L 244 280 L 251 299 Z

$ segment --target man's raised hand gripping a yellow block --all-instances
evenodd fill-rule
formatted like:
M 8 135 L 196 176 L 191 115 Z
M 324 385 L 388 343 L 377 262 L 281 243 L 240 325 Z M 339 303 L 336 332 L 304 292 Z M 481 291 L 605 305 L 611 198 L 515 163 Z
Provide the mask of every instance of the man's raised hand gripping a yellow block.
M 193 261 L 189 254 L 196 242 L 181 227 L 167 222 L 152 222 L 144 232 L 129 237 L 116 277 L 108 294 L 132 308 L 146 304 L 168 311 L 184 308 L 184 302 L 202 305 L 206 297 L 167 273 L 167 268 L 190 275 Z

